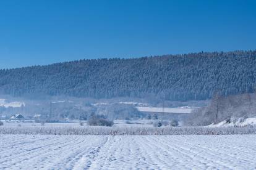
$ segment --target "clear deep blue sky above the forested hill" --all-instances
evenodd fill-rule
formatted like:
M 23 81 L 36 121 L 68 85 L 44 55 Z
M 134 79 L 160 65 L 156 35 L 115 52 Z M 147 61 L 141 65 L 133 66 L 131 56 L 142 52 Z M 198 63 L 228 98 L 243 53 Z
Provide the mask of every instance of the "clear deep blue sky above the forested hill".
M 256 1 L 0 1 L 0 68 L 256 49 Z

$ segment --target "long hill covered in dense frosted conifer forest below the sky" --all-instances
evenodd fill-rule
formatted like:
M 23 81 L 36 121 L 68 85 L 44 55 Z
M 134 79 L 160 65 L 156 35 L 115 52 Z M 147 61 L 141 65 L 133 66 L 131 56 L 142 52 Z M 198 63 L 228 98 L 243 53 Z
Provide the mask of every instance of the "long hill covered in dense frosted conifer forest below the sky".
M 0 92 L 15 96 L 209 99 L 253 92 L 256 51 L 200 52 L 139 59 L 98 59 L 0 70 Z

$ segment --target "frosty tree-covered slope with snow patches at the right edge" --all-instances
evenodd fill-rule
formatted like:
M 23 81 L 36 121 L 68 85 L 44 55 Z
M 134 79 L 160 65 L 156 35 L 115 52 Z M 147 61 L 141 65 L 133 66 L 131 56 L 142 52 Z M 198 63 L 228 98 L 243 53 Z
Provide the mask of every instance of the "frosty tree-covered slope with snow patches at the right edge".
M 255 124 L 256 93 L 223 97 L 215 95 L 207 107 L 198 108 L 186 120 L 186 125 L 245 126 Z M 249 119 L 247 119 L 249 118 Z M 256 122 L 256 121 L 255 121 Z

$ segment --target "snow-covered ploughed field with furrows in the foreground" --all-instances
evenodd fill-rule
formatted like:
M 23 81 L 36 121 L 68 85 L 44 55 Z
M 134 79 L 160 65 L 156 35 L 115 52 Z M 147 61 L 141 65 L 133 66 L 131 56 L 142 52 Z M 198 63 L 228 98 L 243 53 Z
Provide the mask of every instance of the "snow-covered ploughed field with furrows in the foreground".
M 0 169 L 255 169 L 256 135 L 0 135 Z

